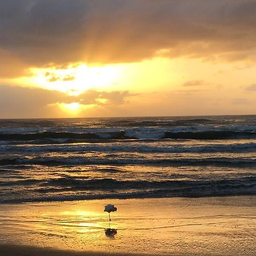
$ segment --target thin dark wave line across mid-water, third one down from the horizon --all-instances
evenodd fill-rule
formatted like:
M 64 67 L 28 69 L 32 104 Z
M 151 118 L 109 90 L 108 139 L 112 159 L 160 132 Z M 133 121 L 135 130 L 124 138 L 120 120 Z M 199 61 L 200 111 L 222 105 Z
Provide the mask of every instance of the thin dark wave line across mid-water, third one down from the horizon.
M 20 164 L 39 164 L 42 166 L 65 165 L 84 165 L 84 164 L 102 164 L 102 165 L 125 165 L 138 164 L 146 166 L 224 166 L 224 167 L 255 167 L 256 159 L 254 158 L 235 158 L 235 157 L 213 157 L 213 158 L 118 158 L 113 155 L 112 158 L 101 158 L 97 156 L 44 156 L 42 158 L 4 158 L 0 159 L 0 166 L 20 165 Z

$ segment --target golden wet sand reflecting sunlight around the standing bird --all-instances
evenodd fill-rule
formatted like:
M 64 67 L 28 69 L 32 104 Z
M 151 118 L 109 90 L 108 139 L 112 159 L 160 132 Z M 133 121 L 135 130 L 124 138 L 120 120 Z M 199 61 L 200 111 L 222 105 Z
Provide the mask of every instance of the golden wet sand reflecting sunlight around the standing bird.
M 108 203 L 118 208 L 110 223 Z M 2 204 L 0 255 L 255 255 L 255 205 L 255 196 Z

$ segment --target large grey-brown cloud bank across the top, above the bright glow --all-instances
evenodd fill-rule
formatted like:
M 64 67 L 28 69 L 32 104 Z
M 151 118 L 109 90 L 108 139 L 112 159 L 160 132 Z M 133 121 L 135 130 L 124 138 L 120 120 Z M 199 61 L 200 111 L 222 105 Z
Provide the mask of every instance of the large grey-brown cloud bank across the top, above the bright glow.
M 0 54 L 21 66 L 255 60 L 255 13 L 250 0 L 2 0 Z

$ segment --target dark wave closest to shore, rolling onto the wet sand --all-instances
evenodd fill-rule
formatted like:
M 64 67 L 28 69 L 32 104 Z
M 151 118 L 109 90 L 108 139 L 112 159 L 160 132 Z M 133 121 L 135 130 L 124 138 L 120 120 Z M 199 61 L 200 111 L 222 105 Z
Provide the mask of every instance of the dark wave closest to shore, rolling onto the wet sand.
M 42 180 L 42 182 L 45 187 L 36 188 L 33 197 L 1 199 L 1 203 L 256 194 L 256 179 L 249 178 L 212 181 L 121 181 L 114 179 L 76 180 L 60 178 Z M 31 180 L 20 181 L 19 185 L 24 183 L 31 183 Z M 0 185 L 3 184 L 0 183 Z M 6 183 L 5 185 L 11 184 Z M 68 192 L 69 195 L 64 195 L 63 192 Z M 36 196 L 36 193 L 38 193 L 38 196 Z

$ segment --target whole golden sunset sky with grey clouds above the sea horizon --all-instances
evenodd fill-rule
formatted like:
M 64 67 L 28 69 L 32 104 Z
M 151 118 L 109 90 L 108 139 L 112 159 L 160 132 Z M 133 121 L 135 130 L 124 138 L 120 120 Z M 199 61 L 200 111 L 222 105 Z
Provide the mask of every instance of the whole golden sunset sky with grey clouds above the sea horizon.
M 0 118 L 256 114 L 256 0 L 0 0 Z

